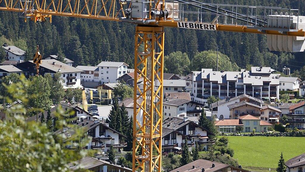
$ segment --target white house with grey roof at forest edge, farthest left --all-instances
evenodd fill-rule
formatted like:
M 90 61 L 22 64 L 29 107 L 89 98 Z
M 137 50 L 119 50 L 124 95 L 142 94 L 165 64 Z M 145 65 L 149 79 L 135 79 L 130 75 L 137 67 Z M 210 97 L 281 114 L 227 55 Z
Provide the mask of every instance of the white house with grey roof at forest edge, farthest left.
M 21 50 L 18 47 L 15 47 L 13 45 L 7 45 L 6 43 L 3 44 L 3 49 L 5 52 L 5 60 L 7 61 L 17 61 L 17 62 L 23 62 L 26 56 L 26 52 Z

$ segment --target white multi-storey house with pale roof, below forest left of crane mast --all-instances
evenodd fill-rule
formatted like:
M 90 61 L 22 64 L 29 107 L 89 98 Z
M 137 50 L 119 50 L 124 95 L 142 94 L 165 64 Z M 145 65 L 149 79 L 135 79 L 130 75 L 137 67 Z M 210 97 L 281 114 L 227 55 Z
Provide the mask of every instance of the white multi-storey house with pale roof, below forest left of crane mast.
M 102 84 L 116 83 L 117 78 L 124 75 L 128 71 L 128 65 L 124 62 L 100 62 L 98 65 L 99 74 Z

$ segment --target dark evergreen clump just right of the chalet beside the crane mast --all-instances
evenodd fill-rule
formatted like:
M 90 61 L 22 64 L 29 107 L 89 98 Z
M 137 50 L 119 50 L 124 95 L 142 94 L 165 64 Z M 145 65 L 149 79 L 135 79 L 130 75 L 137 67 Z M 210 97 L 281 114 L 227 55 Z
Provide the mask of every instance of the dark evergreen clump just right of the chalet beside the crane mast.
M 215 136 L 218 134 L 217 128 L 215 126 L 214 116 L 212 115 L 211 120 L 206 118 L 206 114 L 205 114 L 204 109 L 202 110 L 202 113 L 199 117 L 198 125 L 202 126 L 203 128 L 205 128 L 205 129 L 209 130 L 211 133 L 213 133 L 213 134 L 209 135 L 210 139 L 215 138 Z

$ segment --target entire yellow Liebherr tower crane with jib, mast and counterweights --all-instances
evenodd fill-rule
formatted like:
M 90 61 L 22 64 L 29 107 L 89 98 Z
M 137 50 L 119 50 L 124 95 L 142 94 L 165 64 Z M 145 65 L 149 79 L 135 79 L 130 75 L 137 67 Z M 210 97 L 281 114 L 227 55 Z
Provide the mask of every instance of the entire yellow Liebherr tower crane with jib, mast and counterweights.
M 141 172 L 161 172 L 164 27 L 267 34 L 270 50 L 305 48 L 305 18 L 297 9 L 196 0 L 0 0 L 0 10 L 25 22 L 52 22 L 55 15 L 136 24 L 132 169 Z

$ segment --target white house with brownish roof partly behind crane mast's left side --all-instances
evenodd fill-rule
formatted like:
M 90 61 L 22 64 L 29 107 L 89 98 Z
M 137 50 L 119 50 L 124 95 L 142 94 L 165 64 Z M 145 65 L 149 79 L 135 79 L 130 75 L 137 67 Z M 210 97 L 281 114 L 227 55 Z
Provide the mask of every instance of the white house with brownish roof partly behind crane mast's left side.
M 138 99 L 137 103 L 141 104 L 143 102 L 143 99 Z M 133 98 L 125 98 L 123 101 L 119 103 L 119 107 L 122 107 L 122 105 L 126 107 L 126 110 L 128 112 L 128 117 L 134 118 L 134 99 Z M 137 110 L 140 112 L 137 115 L 138 122 L 142 125 L 143 123 L 143 110 L 139 109 L 139 106 L 137 105 Z M 137 124 L 138 125 L 138 124 Z

